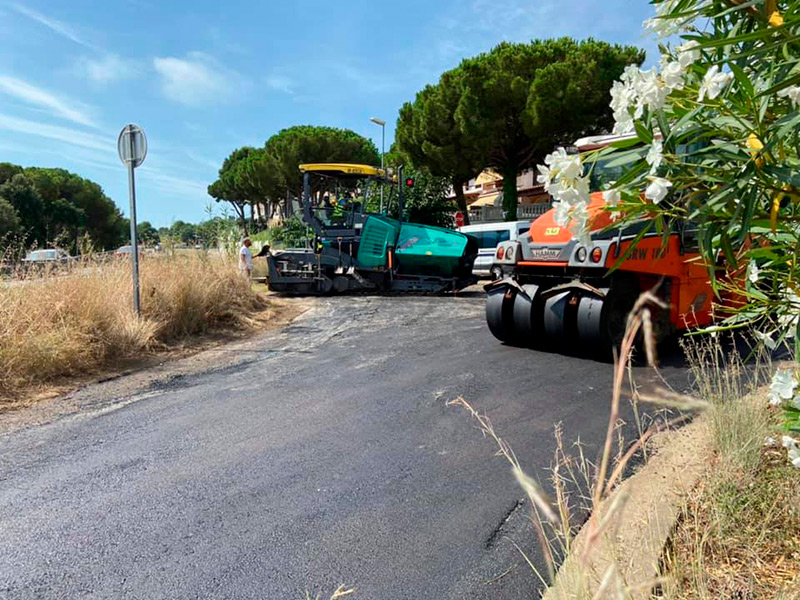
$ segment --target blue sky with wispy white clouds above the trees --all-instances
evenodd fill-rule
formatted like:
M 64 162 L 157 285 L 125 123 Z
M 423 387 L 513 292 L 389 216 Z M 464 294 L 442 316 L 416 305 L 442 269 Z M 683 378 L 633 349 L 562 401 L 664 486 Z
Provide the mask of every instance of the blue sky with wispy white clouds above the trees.
M 497 43 L 569 35 L 639 45 L 645 0 L 0 0 L 0 162 L 97 181 L 127 214 L 116 138 L 147 132 L 139 220 L 197 221 L 221 161 L 297 124 L 380 147 L 425 84 Z M 651 62 L 651 61 L 648 61 Z

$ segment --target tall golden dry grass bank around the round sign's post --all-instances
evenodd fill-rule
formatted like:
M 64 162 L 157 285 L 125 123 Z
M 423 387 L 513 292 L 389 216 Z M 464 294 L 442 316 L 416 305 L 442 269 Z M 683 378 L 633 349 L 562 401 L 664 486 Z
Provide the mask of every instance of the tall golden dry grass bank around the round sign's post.
M 140 318 L 131 288 L 126 260 L 0 283 L 0 404 L 188 336 L 244 327 L 266 306 L 219 255 L 145 257 Z

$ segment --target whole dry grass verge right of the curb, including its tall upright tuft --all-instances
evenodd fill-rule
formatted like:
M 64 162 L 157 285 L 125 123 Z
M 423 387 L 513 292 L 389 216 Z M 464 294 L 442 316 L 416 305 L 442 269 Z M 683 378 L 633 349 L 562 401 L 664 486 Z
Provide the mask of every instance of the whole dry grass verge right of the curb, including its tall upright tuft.
M 688 347 L 699 392 L 711 403 L 715 448 L 703 484 L 689 496 L 664 556 L 669 600 L 800 598 L 800 472 L 778 437 L 762 384 L 770 361 L 745 365 L 719 344 Z

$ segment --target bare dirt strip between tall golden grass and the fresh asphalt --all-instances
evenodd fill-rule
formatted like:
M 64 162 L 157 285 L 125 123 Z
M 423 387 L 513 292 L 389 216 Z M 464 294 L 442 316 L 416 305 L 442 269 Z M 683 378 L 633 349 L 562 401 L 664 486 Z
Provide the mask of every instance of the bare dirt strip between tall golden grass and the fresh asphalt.
M 230 367 L 254 346 L 311 310 L 313 299 L 270 295 L 245 329 L 218 330 L 104 366 L 94 373 L 41 386 L 0 403 L 0 433 L 24 429 L 96 408 L 188 375 Z

